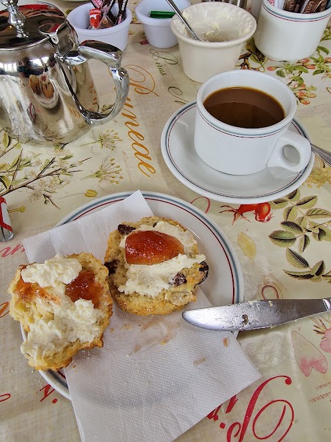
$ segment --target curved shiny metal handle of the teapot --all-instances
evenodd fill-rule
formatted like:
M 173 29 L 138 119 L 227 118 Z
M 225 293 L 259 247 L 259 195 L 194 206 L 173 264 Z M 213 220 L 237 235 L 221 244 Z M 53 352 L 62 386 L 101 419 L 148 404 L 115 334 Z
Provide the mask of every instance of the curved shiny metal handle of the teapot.
M 121 58 L 122 51 L 115 46 L 110 44 L 101 43 L 101 41 L 94 40 L 86 40 L 83 41 L 83 44 L 80 44 L 77 50 L 72 50 L 68 52 L 63 61 L 69 66 L 78 66 L 79 64 L 85 63 L 88 59 L 98 59 L 105 63 L 112 77 L 114 79 L 116 98 L 114 104 L 110 107 L 110 111 L 108 113 L 99 113 L 94 111 L 89 111 L 84 108 L 79 99 L 77 98 L 70 81 L 66 75 L 65 70 L 61 62 L 59 62 L 59 67 L 63 73 L 63 77 L 66 81 L 68 89 L 70 90 L 70 94 L 74 103 L 76 104 L 79 112 L 83 116 L 85 121 L 92 125 L 99 125 L 110 121 L 110 119 L 114 118 L 123 108 L 124 103 L 126 102 L 126 98 L 128 97 L 129 92 L 129 75 L 128 72 L 121 67 Z

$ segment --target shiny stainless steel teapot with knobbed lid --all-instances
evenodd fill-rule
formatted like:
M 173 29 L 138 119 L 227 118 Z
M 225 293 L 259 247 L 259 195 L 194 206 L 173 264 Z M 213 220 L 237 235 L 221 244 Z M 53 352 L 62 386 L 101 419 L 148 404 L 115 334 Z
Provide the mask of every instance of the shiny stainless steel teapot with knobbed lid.
M 0 126 L 10 137 L 66 144 L 121 111 L 129 90 L 121 50 L 99 41 L 79 44 L 55 6 L 1 3 L 7 10 L 0 12 Z M 116 92 L 106 113 L 98 112 L 88 59 L 103 61 L 114 79 L 103 86 Z

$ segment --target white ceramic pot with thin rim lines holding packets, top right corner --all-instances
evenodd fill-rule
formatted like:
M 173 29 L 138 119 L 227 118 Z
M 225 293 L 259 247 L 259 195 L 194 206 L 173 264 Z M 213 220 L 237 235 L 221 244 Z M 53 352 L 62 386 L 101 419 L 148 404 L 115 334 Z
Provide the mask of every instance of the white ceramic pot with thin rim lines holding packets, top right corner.
M 331 8 L 314 14 L 284 11 L 263 0 L 254 41 L 275 61 L 297 61 L 310 57 L 319 45 Z

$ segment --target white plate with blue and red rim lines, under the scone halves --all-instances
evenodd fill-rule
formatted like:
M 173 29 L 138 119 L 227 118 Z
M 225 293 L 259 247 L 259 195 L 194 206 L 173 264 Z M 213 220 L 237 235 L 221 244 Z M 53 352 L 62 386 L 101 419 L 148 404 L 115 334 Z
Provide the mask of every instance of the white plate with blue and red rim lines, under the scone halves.
M 74 210 L 66 218 L 63 218 L 57 225 L 66 224 L 73 220 L 98 211 L 127 198 L 132 192 L 113 193 L 103 198 L 98 198 L 79 209 Z M 150 209 L 155 215 L 165 218 L 172 218 L 183 224 L 192 231 L 197 238 L 199 251 L 206 256 L 209 265 L 207 280 L 201 285 L 201 289 L 212 305 L 228 305 L 235 302 L 242 302 L 243 274 L 237 255 L 232 248 L 228 238 L 224 235 L 219 226 L 208 218 L 205 213 L 192 206 L 192 204 L 174 198 L 170 195 L 154 192 L 142 192 L 148 202 Z M 23 339 L 26 339 L 26 332 L 22 329 Z M 57 392 L 70 399 L 68 385 L 63 372 L 40 371 L 41 376 L 57 390 Z

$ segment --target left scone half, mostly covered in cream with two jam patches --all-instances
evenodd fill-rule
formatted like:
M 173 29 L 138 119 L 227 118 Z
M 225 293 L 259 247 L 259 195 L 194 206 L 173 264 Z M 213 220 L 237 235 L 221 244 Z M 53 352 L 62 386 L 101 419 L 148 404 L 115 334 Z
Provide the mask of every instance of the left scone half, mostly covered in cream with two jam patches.
M 108 269 L 90 253 L 23 265 L 8 293 L 10 316 L 28 338 L 21 352 L 39 370 L 58 370 L 79 349 L 102 347 L 112 316 Z

